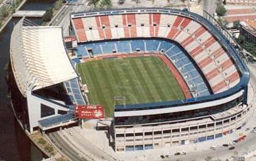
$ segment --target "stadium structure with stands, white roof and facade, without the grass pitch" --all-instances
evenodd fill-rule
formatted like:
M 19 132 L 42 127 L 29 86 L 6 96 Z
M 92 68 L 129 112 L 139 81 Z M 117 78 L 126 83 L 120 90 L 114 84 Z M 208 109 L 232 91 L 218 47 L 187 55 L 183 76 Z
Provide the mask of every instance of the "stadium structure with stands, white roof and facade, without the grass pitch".
M 70 22 L 78 40 L 77 57 L 71 62 L 61 28 L 28 27 L 22 20 L 11 36 L 13 75 L 26 102 L 31 131 L 75 121 L 72 104 L 86 104 L 72 63 L 134 53 L 164 55 L 186 99 L 115 105 L 110 133 L 117 152 L 198 143 L 245 125 L 249 71 L 206 18 L 186 10 L 141 8 L 72 13 Z M 38 92 L 56 86 L 72 103 Z

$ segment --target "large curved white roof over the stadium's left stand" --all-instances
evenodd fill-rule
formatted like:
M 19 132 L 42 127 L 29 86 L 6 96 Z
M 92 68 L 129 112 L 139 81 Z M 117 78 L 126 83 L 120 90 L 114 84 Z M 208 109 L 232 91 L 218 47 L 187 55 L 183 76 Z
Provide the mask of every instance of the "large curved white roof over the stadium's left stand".
M 35 26 L 23 18 L 11 34 L 11 63 L 17 86 L 23 96 L 78 77 L 72 67 L 60 26 Z

